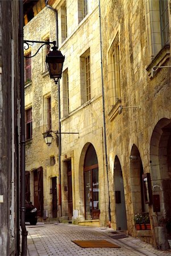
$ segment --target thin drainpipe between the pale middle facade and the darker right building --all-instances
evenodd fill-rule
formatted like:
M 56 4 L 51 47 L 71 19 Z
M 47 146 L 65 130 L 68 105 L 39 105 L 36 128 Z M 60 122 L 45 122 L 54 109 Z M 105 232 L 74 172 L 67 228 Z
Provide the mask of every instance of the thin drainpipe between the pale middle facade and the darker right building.
M 105 96 L 104 96 L 104 84 L 103 84 L 101 1 L 100 0 L 99 0 L 99 24 L 100 24 L 100 40 L 101 40 L 101 74 L 102 74 L 102 101 L 103 101 L 103 129 L 104 129 L 104 144 L 105 144 L 105 160 L 106 160 L 107 186 L 108 186 L 108 196 L 109 196 L 108 217 L 109 217 L 109 228 L 110 228 L 111 227 L 111 209 L 110 209 L 109 171 L 108 171 L 107 143 L 106 143 Z

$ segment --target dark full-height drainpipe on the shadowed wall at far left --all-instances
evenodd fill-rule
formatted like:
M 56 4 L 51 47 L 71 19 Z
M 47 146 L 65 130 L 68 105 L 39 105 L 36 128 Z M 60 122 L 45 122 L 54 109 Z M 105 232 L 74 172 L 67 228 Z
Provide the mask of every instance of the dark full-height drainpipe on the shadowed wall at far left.
M 20 225 L 22 228 L 22 253 L 27 255 L 27 230 L 25 225 L 25 122 L 24 122 L 24 51 L 23 51 L 23 0 L 19 0 L 19 49 L 20 49 L 20 122 L 21 122 L 21 190 L 20 190 Z

